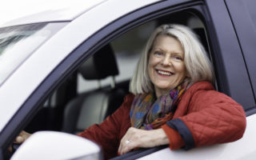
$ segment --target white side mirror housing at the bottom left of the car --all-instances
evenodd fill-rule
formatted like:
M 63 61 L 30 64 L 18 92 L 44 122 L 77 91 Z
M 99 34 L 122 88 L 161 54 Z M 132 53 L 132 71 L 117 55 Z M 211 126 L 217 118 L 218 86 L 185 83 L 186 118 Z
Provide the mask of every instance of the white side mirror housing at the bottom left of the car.
M 56 131 L 32 134 L 11 157 L 17 159 L 103 159 L 101 148 L 86 138 Z

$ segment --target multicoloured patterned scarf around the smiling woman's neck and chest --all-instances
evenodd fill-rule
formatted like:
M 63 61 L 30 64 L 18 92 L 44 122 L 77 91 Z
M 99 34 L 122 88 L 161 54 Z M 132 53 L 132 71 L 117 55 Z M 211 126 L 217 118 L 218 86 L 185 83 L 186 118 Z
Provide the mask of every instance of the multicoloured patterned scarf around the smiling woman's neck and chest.
M 185 91 L 186 84 L 183 83 L 160 98 L 155 98 L 154 94 L 136 95 L 130 108 L 131 126 L 144 130 L 159 128 L 173 118 L 179 99 Z

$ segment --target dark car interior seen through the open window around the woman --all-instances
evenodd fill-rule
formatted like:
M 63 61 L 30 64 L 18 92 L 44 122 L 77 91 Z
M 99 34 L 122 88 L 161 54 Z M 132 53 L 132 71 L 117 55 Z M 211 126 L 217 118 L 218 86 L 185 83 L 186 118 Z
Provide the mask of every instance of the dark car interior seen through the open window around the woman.
M 121 106 L 147 38 L 155 27 L 165 23 L 190 26 L 210 56 L 205 26 L 193 12 L 183 11 L 146 22 L 103 46 L 70 73 L 24 130 L 77 134 L 102 122 Z

